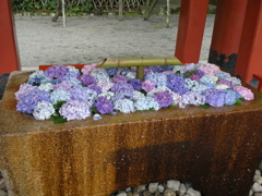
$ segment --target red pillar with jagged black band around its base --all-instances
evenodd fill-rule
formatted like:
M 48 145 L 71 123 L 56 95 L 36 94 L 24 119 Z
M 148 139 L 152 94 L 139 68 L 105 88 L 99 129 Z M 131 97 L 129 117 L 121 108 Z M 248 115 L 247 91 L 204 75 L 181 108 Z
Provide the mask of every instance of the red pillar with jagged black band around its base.
M 260 0 L 259 0 L 260 1 Z M 209 62 L 234 73 L 248 0 L 218 0 Z

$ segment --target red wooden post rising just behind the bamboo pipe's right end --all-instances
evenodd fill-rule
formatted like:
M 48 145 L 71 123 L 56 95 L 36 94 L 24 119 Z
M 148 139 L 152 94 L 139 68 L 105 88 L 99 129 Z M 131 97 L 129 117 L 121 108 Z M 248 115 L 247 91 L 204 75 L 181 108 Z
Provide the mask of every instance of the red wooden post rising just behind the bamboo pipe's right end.
M 175 57 L 183 63 L 199 62 L 209 0 L 182 0 Z

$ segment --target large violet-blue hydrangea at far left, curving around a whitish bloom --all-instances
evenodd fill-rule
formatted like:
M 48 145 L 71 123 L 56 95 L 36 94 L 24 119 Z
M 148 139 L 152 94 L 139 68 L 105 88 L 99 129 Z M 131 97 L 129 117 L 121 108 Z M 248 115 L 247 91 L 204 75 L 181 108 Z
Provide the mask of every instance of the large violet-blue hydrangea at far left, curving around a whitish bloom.
M 20 97 L 16 110 L 32 114 L 37 102 L 41 100 L 50 102 L 50 93 L 41 91 L 38 88 L 25 91 L 23 96 Z

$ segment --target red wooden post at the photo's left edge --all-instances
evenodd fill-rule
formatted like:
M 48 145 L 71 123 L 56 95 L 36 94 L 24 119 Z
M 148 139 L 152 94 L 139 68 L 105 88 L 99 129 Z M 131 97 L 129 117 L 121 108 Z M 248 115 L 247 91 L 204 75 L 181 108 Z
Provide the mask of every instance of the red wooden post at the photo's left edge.
M 11 0 L 0 0 L 0 74 L 20 70 Z

